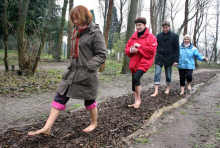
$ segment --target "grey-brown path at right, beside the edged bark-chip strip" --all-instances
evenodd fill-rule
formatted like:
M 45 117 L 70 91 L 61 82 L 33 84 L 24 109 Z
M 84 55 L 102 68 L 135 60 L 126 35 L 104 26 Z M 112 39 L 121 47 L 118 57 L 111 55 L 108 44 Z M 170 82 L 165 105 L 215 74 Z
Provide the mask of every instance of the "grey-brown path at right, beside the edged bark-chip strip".
M 130 148 L 220 148 L 220 74 L 135 137 Z

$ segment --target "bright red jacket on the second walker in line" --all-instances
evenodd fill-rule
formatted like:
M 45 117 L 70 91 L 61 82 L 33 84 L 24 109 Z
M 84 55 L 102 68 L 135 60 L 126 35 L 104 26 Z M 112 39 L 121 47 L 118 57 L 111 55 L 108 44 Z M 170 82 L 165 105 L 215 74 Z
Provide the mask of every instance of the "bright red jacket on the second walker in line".
M 130 53 L 130 48 L 135 43 L 141 46 L 138 47 L 137 53 Z M 129 68 L 131 72 L 134 73 L 137 70 L 146 72 L 153 65 L 156 49 L 157 39 L 149 32 L 148 28 L 146 28 L 144 34 L 141 35 L 140 38 L 138 38 L 136 31 L 128 40 L 125 47 L 125 54 L 130 57 Z

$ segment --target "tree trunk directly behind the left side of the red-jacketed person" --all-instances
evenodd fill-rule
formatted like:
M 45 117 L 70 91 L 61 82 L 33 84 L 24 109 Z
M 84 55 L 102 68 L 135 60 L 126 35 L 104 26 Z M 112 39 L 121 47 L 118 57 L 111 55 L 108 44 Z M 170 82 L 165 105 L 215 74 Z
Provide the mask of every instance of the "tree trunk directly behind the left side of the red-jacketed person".
M 129 40 L 131 35 L 134 33 L 135 24 L 133 23 L 136 16 L 137 16 L 137 8 L 138 8 L 138 1 L 139 0 L 131 0 L 130 1 L 130 9 L 128 14 L 128 23 L 127 23 L 127 32 L 126 32 L 126 42 Z M 124 56 L 123 59 L 123 66 L 122 66 L 122 74 L 126 74 L 129 72 L 129 59 L 127 56 Z

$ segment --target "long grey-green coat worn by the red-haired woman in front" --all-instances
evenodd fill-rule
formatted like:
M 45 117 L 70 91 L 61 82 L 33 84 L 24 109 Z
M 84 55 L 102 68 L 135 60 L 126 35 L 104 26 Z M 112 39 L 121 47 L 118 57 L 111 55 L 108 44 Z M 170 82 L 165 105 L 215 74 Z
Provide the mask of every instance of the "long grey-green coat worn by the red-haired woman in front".
M 89 24 L 80 34 L 79 57 L 71 59 L 67 71 L 63 74 L 57 92 L 74 99 L 96 99 L 98 89 L 97 70 L 106 59 L 104 37 L 98 25 Z

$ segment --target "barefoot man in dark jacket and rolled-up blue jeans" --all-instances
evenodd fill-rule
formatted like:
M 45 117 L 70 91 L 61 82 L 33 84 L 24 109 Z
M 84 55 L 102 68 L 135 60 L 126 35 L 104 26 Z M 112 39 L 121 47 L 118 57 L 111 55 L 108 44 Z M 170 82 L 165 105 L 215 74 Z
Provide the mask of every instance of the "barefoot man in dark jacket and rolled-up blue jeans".
M 163 22 L 162 32 L 157 35 L 157 53 L 155 57 L 155 75 L 154 88 L 155 91 L 151 95 L 155 97 L 158 95 L 158 88 L 160 85 L 160 77 L 162 67 L 165 68 L 167 88 L 165 94 L 170 92 L 170 82 L 172 74 L 172 66 L 177 66 L 179 60 L 179 36 L 170 31 L 170 23 Z

